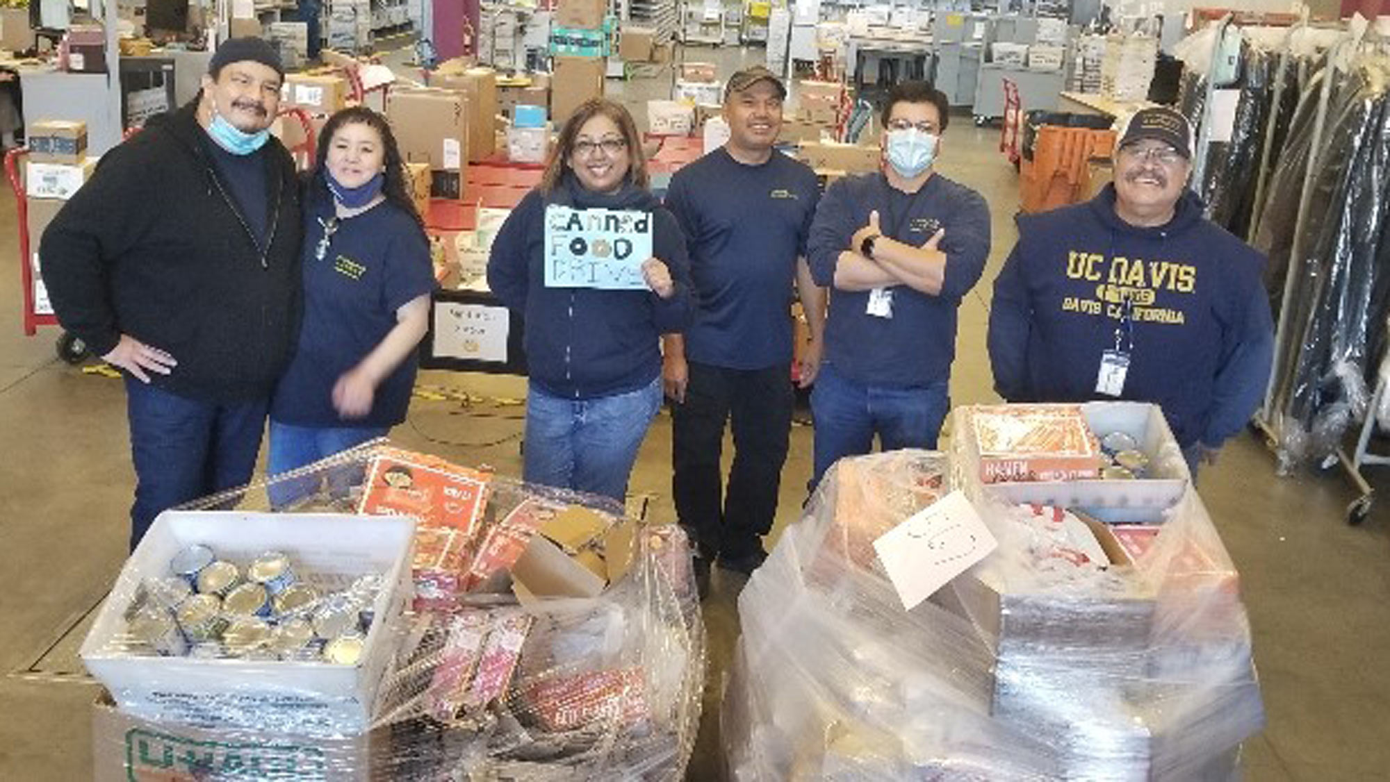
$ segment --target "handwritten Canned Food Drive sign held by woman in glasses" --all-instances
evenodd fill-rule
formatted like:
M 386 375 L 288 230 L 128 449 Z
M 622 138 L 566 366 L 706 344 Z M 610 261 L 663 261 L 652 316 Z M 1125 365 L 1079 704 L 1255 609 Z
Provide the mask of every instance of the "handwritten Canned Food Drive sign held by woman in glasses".
M 637 210 L 545 208 L 545 286 L 645 290 L 652 214 Z

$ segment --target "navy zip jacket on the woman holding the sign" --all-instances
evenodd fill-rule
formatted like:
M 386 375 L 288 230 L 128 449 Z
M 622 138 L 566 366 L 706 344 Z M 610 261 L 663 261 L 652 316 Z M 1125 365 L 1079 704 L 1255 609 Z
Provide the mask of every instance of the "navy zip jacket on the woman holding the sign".
M 546 288 L 545 207 L 621 208 L 652 213 L 652 251 L 671 272 L 676 292 Z M 616 196 L 588 193 L 573 176 L 549 196 L 527 193 L 492 242 L 488 286 L 525 321 L 531 382 L 569 399 L 637 390 L 662 374 L 660 336 L 691 325 L 689 258 L 680 225 L 651 193 L 624 188 Z

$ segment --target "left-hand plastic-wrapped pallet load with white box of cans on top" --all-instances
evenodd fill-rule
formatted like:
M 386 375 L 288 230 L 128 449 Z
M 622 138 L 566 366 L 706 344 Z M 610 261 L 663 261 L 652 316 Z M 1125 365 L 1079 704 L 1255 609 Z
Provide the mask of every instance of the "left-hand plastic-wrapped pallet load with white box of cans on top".
M 163 514 L 83 644 L 97 779 L 684 776 L 678 526 L 379 440 L 195 506 L 239 507 Z

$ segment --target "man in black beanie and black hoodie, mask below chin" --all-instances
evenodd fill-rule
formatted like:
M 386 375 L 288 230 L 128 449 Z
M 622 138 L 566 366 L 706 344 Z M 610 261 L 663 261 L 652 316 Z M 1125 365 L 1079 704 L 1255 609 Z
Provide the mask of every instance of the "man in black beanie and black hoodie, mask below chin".
M 282 79 L 264 40 L 222 43 L 197 97 L 106 153 L 43 235 L 58 321 L 125 375 L 132 549 L 256 467 L 299 307 L 295 164 L 270 135 Z

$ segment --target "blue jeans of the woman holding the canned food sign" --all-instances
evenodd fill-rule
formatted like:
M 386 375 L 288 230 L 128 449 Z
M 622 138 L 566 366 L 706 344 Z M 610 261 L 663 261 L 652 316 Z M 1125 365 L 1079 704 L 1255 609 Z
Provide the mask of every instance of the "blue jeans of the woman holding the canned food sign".
M 525 481 L 623 501 L 637 450 L 660 406 L 660 378 L 638 390 L 598 399 L 552 396 L 530 383 Z

